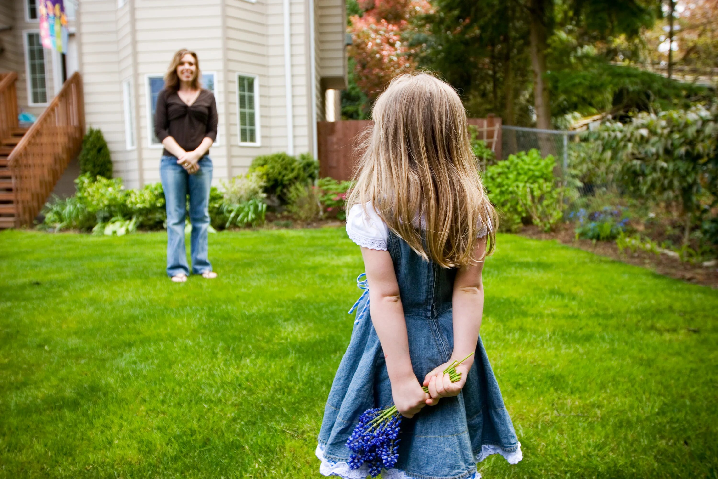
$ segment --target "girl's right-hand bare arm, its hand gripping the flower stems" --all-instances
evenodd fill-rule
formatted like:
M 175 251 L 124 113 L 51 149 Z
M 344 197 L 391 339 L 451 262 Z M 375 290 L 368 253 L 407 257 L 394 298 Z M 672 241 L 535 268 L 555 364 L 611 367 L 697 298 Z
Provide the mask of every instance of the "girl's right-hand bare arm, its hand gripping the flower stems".
M 454 351 L 449 363 L 461 361 L 470 353 L 476 350 L 479 340 L 479 328 L 484 310 L 484 286 L 481 280 L 481 272 L 484 267 L 486 256 L 486 237 L 480 238 L 474 250 L 475 264 L 466 266 L 457 272 L 454 280 L 453 303 L 453 326 L 454 326 Z M 424 386 L 429 386 L 429 394 L 432 396 L 427 404 L 434 406 L 439 399 L 447 396 L 457 396 L 466 383 L 466 378 L 474 362 L 474 356 L 466 359 L 456 370 L 460 371 L 461 379 L 452 383 L 449 375 L 444 374 L 448 363 L 442 364 L 424 378 Z

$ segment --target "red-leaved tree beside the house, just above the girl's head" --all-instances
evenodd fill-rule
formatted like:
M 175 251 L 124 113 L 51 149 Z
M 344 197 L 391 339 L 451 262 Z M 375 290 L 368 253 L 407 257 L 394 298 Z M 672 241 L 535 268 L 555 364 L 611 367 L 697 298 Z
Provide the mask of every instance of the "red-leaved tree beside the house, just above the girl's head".
M 412 17 L 432 7 L 426 0 L 362 0 L 359 6 L 364 14 L 350 18 L 349 55 L 355 60 L 357 85 L 373 99 L 392 78 L 416 68 L 404 33 L 413 28 Z

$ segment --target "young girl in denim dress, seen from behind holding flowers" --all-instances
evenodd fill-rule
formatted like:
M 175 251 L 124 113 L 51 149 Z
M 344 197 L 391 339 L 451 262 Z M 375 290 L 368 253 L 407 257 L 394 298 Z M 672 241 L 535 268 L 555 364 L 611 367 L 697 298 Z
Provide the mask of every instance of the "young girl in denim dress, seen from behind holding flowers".
M 522 457 L 479 338 L 495 212 L 451 86 L 425 73 L 401 75 L 373 117 L 347 218 L 368 294 L 355 304 L 327 399 L 320 473 L 366 478 L 368 465 L 350 469 L 346 441 L 363 411 L 393 401 L 404 420 L 398 462 L 384 479 L 479 478 L 476 463 L 488 455 L 512 464 Z M 442 371 L 471 352 L 452 383 Z

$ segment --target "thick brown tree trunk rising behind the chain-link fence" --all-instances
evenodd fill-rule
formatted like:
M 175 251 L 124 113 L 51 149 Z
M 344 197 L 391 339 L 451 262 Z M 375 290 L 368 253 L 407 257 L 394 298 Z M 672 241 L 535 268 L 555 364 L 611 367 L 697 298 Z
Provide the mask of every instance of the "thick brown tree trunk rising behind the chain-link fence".
M 530 0 L 531 68 L 533 69 L 533 106 L 536 128 L 551 128 L 549 85 L 546 83 L 546 10 L 550 0 Z

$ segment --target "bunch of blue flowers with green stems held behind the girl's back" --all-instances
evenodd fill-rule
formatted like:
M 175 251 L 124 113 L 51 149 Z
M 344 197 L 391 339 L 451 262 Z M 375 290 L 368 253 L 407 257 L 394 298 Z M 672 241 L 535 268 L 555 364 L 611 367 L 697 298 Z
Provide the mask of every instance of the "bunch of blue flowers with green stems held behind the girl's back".
M 472 354 L 461 361 L 454 361 L 444 369 L 444 374 L 449 374 L 452 383 L 461 379 L 461 373 L 456 371 L 456 366 L 466 361 Z M 429 392 L 428 387 L 423 386 L 423 388 L 424 392 Z M 359 424 L 347 440 L 347 447 L 352 452 L 349 455 L 349 467 L 358 469 L 367 463 L 369 474 L 373 478 L 381 473 L 381 468 L 393 468 L 399 459 L 400 425 L 401 414 L 394 405 L 364 411 L 359 417 Z

